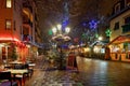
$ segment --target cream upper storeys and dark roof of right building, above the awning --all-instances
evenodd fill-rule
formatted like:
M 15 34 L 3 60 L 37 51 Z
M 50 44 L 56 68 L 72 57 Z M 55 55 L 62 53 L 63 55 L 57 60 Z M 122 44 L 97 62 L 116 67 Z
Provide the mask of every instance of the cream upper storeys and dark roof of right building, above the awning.
M 110 19 L 110 41 L 120 34 L 130 34 L 130 0 L 118 1 L 113 9 Z

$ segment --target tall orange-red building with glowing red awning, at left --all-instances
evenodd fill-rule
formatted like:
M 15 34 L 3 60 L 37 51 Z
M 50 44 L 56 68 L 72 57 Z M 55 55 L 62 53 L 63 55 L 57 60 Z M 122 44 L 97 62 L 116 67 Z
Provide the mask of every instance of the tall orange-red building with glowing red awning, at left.
M 35 2 L 29 0 L 0 1 L 0 60 L 25 60 L 37 52 Z

